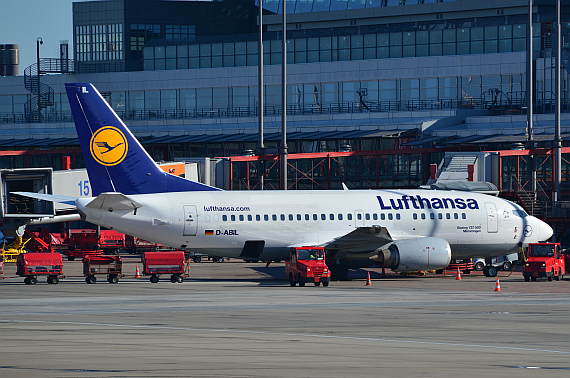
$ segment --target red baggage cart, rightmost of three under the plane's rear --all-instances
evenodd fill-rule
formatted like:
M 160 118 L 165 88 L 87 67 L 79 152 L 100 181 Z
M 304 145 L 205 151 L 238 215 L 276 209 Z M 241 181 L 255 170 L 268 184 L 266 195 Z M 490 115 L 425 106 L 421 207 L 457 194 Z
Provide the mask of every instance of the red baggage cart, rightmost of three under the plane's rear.
M 184 251 L 145 252 L 143 274 L 150 276 L 150 282 L 157 283 L 161 274 L 170 274 L 170 282 L 184 282 Z

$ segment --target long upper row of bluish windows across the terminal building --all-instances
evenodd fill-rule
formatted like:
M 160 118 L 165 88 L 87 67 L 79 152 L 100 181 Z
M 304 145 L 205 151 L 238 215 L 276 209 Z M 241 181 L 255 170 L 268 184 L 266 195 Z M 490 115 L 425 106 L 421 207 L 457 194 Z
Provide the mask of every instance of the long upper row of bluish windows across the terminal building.
M 534 49 L 541 50 L 540 24 Z M 319 34 L 318 31 L 312 31 Z M 330 34 L 322 31 L 322 34 Z M 255 36 L 251 36 L 253 39 Z M 170 49 L 169 49 L 170 47 Z M 291 38 L 287 63 L 406 58 L 422 56 L 492 54 L 526 50 L 526 25 L 460 27 L 406 32 L 347 34 Z M 144 71 L 257 65 L 257 41 L 202 43 L 187 46 L 146 46 Z M 263 62 L 281 64 L 281 41 L 264 41 Z

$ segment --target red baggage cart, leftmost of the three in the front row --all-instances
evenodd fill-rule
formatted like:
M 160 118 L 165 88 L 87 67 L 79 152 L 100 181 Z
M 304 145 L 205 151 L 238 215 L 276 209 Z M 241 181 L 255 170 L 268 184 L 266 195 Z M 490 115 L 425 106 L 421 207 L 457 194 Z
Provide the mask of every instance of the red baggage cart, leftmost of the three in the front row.
M 38 283 L 38 276 L 47 276 L 48 284 L 59 283 L 63 261 L 59 253 L 22 253 L 16 261 L 16 274 L 25 277 L 26 285 Z

